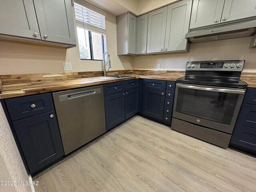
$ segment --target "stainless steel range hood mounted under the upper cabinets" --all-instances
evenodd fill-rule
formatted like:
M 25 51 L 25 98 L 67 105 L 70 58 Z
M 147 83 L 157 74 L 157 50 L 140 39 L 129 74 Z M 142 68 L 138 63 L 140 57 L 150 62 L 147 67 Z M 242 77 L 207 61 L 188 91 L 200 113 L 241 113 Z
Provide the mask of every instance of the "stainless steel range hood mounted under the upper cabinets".
M 216 41 L 253 36 L 256 33 L 256 19 L 219 24 L 207 28 L 190 30 L 185 38 L 190 43 Z

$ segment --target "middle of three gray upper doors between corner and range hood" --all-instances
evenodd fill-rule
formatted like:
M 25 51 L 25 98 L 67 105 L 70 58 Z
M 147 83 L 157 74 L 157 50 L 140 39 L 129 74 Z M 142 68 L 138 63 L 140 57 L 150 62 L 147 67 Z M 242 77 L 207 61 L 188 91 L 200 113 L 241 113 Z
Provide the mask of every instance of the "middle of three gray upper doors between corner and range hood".
M 167 6 L 148 13 L 147 53 L 164 52 Z

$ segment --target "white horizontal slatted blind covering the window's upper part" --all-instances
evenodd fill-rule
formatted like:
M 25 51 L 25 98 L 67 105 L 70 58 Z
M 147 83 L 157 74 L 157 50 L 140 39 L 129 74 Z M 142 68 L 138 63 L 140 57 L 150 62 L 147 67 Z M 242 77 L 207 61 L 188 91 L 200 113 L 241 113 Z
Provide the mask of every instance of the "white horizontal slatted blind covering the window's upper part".
M 105 16 L 74 3 L 76 24 L 88 31 L 106 34 Z

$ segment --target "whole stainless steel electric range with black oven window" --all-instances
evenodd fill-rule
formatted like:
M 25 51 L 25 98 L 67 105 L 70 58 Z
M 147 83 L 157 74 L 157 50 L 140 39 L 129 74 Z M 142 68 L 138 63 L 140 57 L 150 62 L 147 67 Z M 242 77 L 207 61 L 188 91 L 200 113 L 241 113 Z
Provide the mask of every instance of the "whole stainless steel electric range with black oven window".
M 172 129 L 227 148 L 247 87 L 244 62 L 187 62 L 176 83 Z

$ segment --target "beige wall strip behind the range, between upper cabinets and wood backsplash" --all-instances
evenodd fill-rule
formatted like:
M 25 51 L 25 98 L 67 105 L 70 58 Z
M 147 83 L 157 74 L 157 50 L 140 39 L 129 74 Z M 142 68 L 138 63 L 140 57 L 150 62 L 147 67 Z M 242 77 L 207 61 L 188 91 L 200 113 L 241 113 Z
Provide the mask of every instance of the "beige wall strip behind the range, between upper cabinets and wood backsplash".
M 132 67 L 141 70 L 185 70 L 187 61 L 245 60 L 244 72 L 256 72 L 256 48 L 249 49 L 252 37 L 195 43 L 189 53 L 155 54 L 134 57 Z

